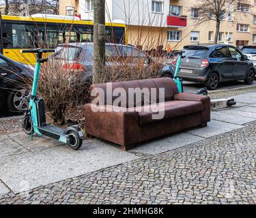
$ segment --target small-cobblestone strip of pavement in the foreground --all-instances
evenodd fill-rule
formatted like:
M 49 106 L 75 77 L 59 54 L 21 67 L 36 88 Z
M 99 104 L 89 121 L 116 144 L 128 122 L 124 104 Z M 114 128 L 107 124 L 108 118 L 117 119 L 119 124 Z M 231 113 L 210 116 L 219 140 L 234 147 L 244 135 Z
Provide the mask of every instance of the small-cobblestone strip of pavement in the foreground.
M 1 204 L 256 204 L 256 122 L 159 155 L 146 155 Z

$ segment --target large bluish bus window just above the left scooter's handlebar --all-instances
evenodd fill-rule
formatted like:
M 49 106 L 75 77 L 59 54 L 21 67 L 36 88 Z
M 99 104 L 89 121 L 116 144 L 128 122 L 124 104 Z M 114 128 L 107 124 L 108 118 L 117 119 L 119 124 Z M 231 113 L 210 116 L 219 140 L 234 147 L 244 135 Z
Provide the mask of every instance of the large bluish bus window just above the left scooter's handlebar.
M 33 25 L 12 25 L 13 48 L 31 48 L 35 46 Z

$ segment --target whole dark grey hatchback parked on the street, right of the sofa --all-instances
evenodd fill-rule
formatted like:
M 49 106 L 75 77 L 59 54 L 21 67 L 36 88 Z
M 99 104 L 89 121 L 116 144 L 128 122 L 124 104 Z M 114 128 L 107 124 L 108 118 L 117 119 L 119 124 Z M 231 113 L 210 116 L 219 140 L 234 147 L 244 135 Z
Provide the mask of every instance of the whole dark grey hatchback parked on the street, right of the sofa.
M 197 44 L 184 46 L 184 58 L 178 76 L 187 81 L 204 82 L 214 90 L 219 82 L 244 80 L 252 84 L 255 78 L 253 62 L 234 46 L 225 44 Z M 173 60 L 175 68 L 177 57 Z

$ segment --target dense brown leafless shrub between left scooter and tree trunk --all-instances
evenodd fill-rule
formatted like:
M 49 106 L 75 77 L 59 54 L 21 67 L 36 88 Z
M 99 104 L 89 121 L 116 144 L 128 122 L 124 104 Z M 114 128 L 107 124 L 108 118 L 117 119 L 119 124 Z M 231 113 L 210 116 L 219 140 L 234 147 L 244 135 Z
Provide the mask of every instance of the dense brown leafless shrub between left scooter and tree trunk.
M 44 98 L 46 111 L 53 123 L 65 123 L 68 108 L 76 110 L 80 103 L 83 104 L 85 84 L 82 77 L 83 72 L 66 71 L 63 63 L 56 59 L 42 66 L 38 95 Z

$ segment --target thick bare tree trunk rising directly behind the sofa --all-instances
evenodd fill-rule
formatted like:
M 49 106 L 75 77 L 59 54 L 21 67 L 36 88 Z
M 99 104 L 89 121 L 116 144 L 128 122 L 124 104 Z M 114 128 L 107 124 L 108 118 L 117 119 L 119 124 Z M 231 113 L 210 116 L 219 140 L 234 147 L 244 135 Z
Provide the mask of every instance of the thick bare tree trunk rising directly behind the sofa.
M 105 0 L 94 0 L 94 75 L 100 81 L 105 65 Z

